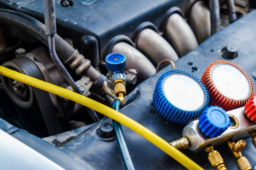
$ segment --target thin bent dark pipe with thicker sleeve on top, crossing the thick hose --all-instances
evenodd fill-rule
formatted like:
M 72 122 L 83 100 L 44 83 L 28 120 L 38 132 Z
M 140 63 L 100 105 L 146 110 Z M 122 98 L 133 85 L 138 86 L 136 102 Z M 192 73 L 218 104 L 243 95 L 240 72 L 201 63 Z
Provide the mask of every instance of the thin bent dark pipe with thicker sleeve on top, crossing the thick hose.
M 55 34 L 56 34 L 56 20 L 55 20 L 55 10 L 54 10 L 54 0 L 44 0 L 44 11 L 45 12 L 45 27 L 46 27 L 46 34 L 48 35 L 48 47 L 49 47 L 49 53 L 50 56 L 57 66 L 57 68 L 60 70 L 62 73 L 62 76 L 66 79 L 66 81 L 69 83 L 69 85 L 72 87 L 72 89 L 83 95 L 81 90 L 78 88 L 77 84 L 73 80 L 73 78 L 70 76 L 69 72 L 67 69 L 64 67 L 62 64 L 61 60 L 59 59 L 58 55 L 56 54 L 55 51 Z M 87 108 L 87 111 L 91 115 L 92 119 L 95 122 L 99 122 L 100 118 L 98 115 L 95 113 L 94 110 Z

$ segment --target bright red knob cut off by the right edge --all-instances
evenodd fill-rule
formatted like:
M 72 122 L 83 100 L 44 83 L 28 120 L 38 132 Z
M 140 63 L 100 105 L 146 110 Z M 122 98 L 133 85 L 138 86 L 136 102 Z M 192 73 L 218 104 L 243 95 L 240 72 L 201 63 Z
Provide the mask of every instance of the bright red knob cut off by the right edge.
M 256 123 L 256 94 L 245 104 L 245 115 L 254 123 Z

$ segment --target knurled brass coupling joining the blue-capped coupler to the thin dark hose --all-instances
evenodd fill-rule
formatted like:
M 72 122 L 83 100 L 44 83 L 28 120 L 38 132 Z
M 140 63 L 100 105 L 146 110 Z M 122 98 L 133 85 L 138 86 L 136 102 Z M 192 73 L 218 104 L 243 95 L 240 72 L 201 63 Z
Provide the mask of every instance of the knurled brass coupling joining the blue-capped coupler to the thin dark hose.
M 120 100 L 121 104 L 124 103 L 124 97 L 126 96 L 126 88 L 125 83 L 122 79 L 116 79 L 113 82 L 114 92 L 116 95 L 116 99 Z

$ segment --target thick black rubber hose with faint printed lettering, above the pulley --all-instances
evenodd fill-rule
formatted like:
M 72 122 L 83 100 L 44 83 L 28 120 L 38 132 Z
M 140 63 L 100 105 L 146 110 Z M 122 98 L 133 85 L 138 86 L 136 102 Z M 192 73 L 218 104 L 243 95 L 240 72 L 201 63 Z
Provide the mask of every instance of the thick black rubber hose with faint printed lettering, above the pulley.
M 48 46 L 48 37 L 45 35 L 45 25 L 35 18 L 29 17 L 21 12 L 0 9 L 0 23 L 20 28 Z M 56 53 L 63 61 L 67 61 L 75 52 L 75 49 L 57 34 L 55 35 L 54 41 L 56 44 Z

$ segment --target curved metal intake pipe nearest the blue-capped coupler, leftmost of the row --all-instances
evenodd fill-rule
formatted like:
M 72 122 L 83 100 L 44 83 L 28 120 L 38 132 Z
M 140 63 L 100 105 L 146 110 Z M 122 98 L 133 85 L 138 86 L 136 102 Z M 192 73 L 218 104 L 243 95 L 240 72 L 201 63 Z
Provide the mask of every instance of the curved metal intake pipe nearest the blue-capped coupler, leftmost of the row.
M 126 56 L 125 70 L 134 69 L 138 73 L 138 81 L 142 82 L 146 78 L 153 76 L 156 72 L 153 64 L 136 48 L 125 42 L 116 43 L 111 53 L 122 53 Z

